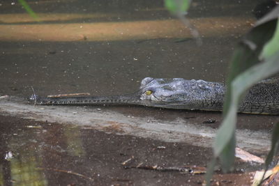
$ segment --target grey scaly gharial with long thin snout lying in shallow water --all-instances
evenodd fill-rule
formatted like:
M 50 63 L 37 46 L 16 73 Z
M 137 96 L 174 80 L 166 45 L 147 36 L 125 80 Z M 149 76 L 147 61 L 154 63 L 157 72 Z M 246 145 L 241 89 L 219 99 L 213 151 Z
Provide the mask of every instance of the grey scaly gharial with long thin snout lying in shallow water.
M 102 105 L 137 104 L 168 109 L 190 109 L 222 111 L 225 86 L 204 80 L 182 78 L 142 79 L 140 90 L 130 95 L 39 98 L 32 95 L 29 100 L 36 104 Z M 252 86 L 240 104 L 239 112 L 248 114 L 279 114 L 279 81 L 268 79 Z

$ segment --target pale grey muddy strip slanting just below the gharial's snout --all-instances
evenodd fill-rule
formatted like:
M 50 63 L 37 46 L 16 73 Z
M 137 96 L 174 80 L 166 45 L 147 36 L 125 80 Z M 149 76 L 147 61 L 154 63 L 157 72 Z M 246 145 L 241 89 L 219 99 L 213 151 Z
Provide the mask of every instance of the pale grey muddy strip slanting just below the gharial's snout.
M 120 114 L 105 110 L 106 107 L 34 106 L 25 100 L 18 101 L 14 97 L 2 99 L 0 103 L 1 113 L 8 116 L 88 126 L 100 131 L 166 142 L 183 142 L 209 147 L 216 134 L 216 128 L 206 124 L 206 121 L 199 123 L 198 118 L 189 120 L 176 116 L 166 120 L 152 116 Z M 153 109 L 153 112 L 156 111 L 160 109 Z M 216 113 L 216 116 L 217 114 L 220 117 L 220 113 Z M 239 128 L 236 130 L 237 146 L 253 153 L 266 153 L 269 150 L 270 135 L 269 130 Z

